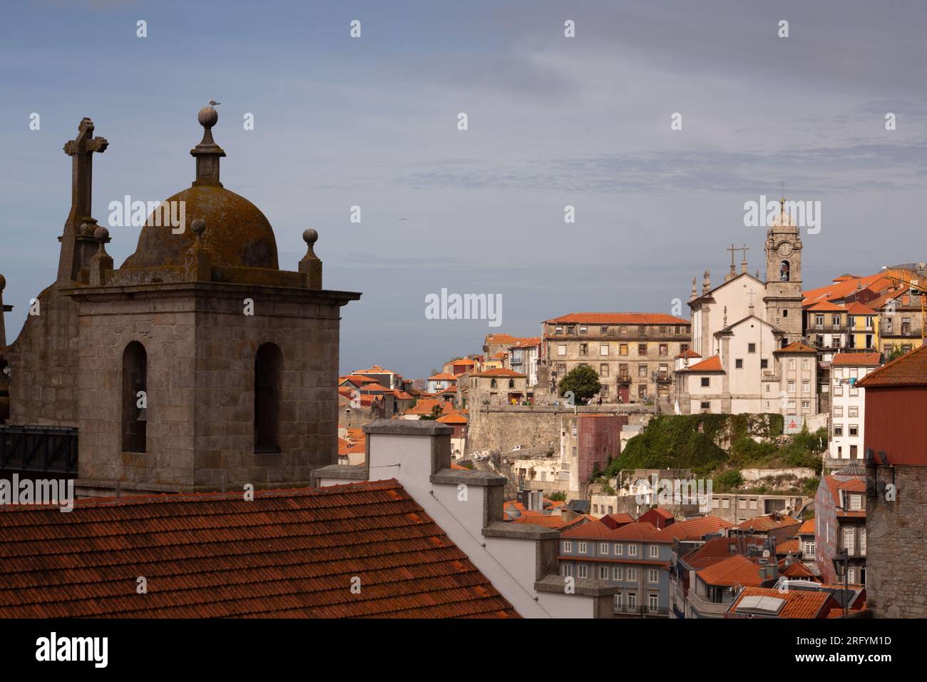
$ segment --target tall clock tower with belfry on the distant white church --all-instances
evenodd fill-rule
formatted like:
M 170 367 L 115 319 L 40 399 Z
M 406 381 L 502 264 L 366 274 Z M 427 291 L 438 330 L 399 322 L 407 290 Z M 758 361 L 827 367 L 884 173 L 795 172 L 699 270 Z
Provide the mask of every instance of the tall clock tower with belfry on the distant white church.
M 766 234 L 767 321 L 784 333 L 782 345 L 802 338 L 802 239 L 780 199 L 779 215 Z

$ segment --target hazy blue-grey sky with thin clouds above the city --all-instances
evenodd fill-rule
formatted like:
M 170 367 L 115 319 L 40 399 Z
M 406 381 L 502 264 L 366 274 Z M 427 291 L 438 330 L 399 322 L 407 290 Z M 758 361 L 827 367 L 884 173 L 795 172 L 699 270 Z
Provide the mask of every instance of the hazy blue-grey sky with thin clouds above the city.
M 81 118 L 109 141 L 94 166 L 105 223 L 112 199 L 189 185 L 196 113 L 210 97 L 222 102 L 222 182 L 268 216 L 281 266 L 296 268 L 313 227 L 325 287 L 363 292 L 344 309 L 342 371 L 379 364 L 420 377 L 478 352 L 489 331 L 536 335 L 541 320 L 577 311 L 670 312 L 705 268 L 719 281 L 732 241 L 763 270 L 763 231 L 743 226 L 743 203 L 778 196 L 780 182 L 790 199 L 821 201 L 821 231 L 804 237 L 806 288 L 927 260 L 925 12 L 901 2 L 7 3 L 8 341 L 55 278 L 70 208 L 61 148 Z M 683 128 L 671 131 L 677 111 Z M 361 224 L 349 222 L 352 205 Z M 138 228 L 111 231 L 121 264 Z M 442 288 L 502 294 L 502 327 L 426 319 L 425 295 Z

